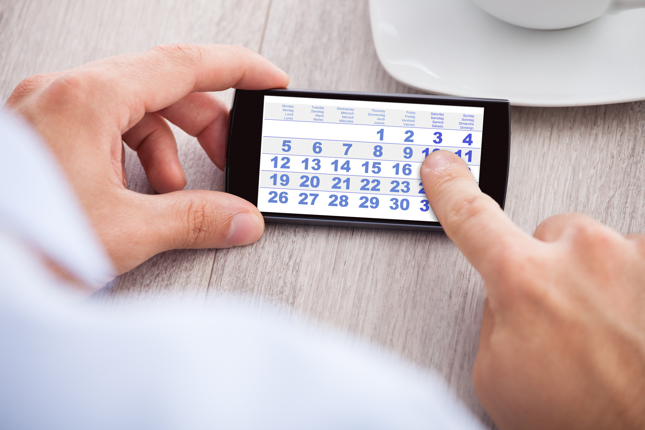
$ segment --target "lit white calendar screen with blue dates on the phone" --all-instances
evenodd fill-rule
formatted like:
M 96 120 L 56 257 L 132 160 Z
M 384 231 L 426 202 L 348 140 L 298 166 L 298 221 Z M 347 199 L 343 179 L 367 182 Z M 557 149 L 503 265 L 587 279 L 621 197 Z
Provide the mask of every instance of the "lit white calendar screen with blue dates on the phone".
M 437 221 L 419 174 L 433 150 L 479 182 L 484 108 L 264 96 L 257 207 Z

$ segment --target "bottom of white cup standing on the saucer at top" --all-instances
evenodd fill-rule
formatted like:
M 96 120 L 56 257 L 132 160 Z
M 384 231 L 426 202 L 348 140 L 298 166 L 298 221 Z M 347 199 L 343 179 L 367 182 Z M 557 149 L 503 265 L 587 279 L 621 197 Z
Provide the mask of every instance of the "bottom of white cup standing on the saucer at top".
M 645 0 L 473 0 L 473 2 L 502 21 L 536 30 L 574 27 L 593 21 L 604 14 L 645 8 Z

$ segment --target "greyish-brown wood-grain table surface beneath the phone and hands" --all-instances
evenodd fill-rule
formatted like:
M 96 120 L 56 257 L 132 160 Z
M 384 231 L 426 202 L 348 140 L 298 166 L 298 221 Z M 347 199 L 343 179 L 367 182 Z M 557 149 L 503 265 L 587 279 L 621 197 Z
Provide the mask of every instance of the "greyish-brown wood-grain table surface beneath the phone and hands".
M 0 0 L 0 101 L 28 75 L 174 42 L 247 46 L 292 88 L 416 92 L 381 67 L 365 0 Z M 222 191 L 223 173 L 174 130 L 186 189 Z M 645 231 L 644 102 L 513 107 L 511 130 L 506 212 L 524 231 L 563 211 Z M 153 193 L 127 157 L 130 189 Z M 161 253 L 97 296 L 118 306 L 171 293 L 286 304 L 435 369 L 490 424 L 471 383 L 484 285 L 442 233 L 267 224 L 251 246 Z

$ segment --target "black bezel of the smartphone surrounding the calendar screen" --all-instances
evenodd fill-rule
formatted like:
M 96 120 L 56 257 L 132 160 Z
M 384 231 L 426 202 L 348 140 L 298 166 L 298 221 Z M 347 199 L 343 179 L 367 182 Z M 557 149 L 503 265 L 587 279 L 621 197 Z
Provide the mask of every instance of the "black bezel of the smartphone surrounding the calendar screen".
M 508 100 L 475 99 L 440 95 L 358 93 L 314 90 L 235 90 L 230 112 L 226 150 L 226 192 L 257 206 L 262 144 L 264 95 L 316 97 L 395 103 L 444 104 L 484 108 L 479 188 L 504 209 L 510 159 L 510 103 Z M 443 231 L 439 222 L 381 218 L 331 217 L 301 213 L 262 212 L 267 222 L 314 224 L 391 230 Z

